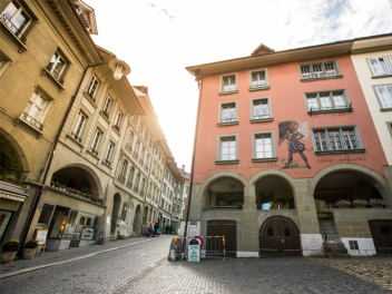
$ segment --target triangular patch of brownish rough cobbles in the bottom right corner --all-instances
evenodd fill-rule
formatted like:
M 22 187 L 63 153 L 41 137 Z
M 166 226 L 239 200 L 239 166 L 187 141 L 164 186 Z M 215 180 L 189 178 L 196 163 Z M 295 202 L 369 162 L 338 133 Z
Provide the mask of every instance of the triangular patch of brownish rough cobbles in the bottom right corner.
M 352 274 L 385 288 L 392 290 L 391 257 L 311 258 L 321 264 Z

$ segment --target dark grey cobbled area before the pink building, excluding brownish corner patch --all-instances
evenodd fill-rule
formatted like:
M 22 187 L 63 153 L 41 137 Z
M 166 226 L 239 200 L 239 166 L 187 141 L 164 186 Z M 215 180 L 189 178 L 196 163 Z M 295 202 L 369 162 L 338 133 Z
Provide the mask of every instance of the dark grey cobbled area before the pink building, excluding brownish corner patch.
M 161 262 L 115 291 L 122 293 L 363 293 L 389 290 L 304 257 Z

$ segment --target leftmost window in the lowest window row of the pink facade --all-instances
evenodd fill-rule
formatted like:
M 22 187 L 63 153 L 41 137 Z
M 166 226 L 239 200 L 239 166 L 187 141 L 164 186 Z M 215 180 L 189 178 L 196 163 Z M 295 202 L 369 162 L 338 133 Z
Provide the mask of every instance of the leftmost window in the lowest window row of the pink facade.
M 219 135 L 217 137 L 217 165 L 238 164 L 238 134 Z

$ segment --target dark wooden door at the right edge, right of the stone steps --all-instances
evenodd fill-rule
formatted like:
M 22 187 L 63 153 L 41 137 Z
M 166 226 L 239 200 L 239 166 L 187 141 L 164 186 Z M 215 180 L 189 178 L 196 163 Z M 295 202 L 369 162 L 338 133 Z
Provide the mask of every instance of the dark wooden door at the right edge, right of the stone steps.
M 369 220 L 378 254 L 392 254 L 392 219 Z

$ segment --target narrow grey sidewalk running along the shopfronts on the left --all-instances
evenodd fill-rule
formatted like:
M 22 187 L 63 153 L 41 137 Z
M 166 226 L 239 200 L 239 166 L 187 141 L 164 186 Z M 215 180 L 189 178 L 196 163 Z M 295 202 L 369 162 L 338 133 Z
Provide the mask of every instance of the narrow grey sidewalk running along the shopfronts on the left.
M 165 235 L 163 235 L 163 236 L 165 236 Z M 69 249 L 59 251 L 59 252 L 46 252 L 43 254 L 43 256 L 41 254 L 39 254 L 39 255 L 35 256 L 32 259 L 18 259 L 18 261 L 13 261 L 12 263 L 9 263 L 9 264 L 1 264 L 0 265 L 0 275 L 12 273 L 12 272 L 20 271 L 20 270 L 30 268 L 33 266 L 40 266 L 40 265 L 68 261 L 68 259 L 86 256 L 88 254 L 99 253 L 102 251 L 112 249 L 116 247 L 126 246 L 126 245 L 130 245 L 134 243 L 139 243 L 143 241 L 154 242 L 154 238 L 137 237 L 137 238 L 128 238 L 128 239 L 118 239 L 115 242 L 106 243 L 104 245 L 75 247 L 75 248 L 69 248 Z

